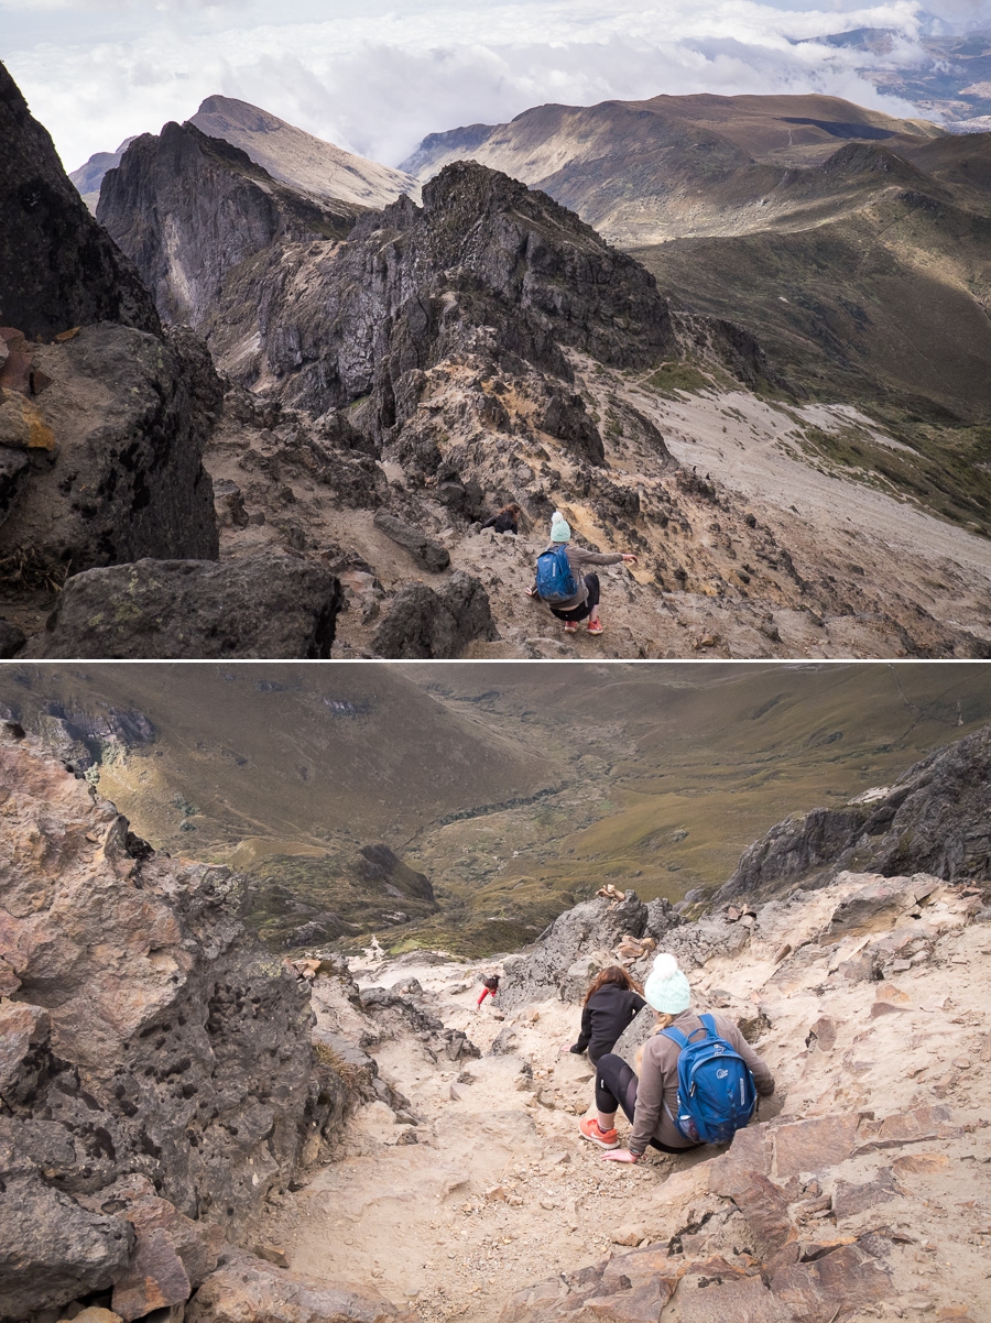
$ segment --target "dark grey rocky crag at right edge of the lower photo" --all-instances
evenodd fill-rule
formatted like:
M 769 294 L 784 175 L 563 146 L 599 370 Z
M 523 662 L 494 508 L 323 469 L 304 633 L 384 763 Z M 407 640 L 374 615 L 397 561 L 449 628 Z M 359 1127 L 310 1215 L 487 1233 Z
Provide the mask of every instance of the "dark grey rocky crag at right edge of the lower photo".
M 991 726 L 937 749 L 898 781 L 843 808 L 789 818 L 741 856 L 716 900 L 773 894 L 799 878 L 826 881 L 840 869 L 894 876 L 906 869 L 991 877 L 991 823 L 983 812 L 991 778 Z

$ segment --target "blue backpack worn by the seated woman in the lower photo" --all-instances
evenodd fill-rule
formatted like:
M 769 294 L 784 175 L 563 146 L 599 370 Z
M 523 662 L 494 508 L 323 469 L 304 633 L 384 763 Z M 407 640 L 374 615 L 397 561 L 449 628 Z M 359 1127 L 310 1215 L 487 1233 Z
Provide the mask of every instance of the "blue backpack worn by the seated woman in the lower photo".
M 672 1121 L 692 1143 L 725 1144 L 750 1121 L 757 1105 L 754 1077 L 732 1043 L 716 1032 L 711 1015 L 700 1015 L 704 1029 L 685 1036 L 660 1032 L 681 1049 L 677 1058 L 677 1115 Z M 691 1043 L 689 1037 L 705 1033 Z M 669 1109 L 668 1109 L 669 1114 Z

